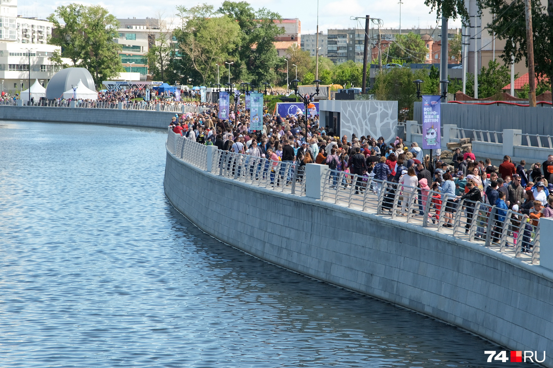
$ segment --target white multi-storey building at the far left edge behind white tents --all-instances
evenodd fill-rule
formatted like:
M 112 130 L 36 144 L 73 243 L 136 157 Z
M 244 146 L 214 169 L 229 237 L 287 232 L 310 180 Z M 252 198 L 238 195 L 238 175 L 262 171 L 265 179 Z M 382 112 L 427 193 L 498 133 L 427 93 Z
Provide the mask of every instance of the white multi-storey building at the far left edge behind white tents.
M 59 46 L 46 44 L 52 24 L 17 15 L 17 0 L 0 0 L 0 90 L 18 93 L 38 79 L 46 86 L 61 69 L 49 60 Z M 30 54 L 30 60 L 29 60 Z

